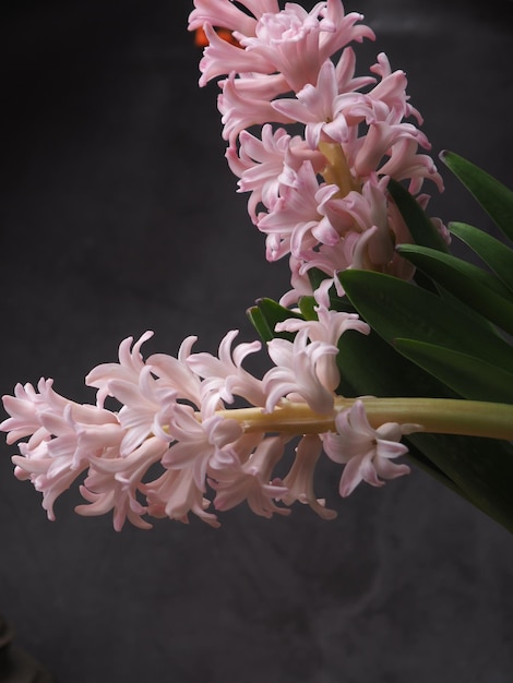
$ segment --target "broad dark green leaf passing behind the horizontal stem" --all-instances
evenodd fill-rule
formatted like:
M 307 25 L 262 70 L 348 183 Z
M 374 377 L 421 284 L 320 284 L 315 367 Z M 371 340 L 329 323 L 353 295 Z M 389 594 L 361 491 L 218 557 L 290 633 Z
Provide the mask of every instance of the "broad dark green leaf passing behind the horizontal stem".
M 344 333 L 338 363 L 346 396 L 454 396 L 399 356 L 375 333 Z M 513 448 L 502 441 L 452 434 L 410 434 L 408 459 L 513 531 Z

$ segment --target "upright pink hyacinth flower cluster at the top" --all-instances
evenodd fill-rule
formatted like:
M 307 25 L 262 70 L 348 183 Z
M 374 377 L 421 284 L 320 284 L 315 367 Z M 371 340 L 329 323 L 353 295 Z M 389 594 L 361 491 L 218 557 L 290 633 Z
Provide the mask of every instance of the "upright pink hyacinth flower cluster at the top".
M 422 206 L 425 180 L 443 184 L 422 152 L 430 144 L 416 125 L 422 119 L 408 101 L 405 73 L 381 52 L 368 75 L 355 75 L 351 44 L 374 35 L 339 0 L 310 12 L 296 3 L 279 10 L 277 0 L 238 4 L 198 0 L 190 28 L 210 41 L 200 85 L 226 76 L 218 97 L 226 156 L 239 191 L 250 193 L 266 257 L 289 256 L 293 290 L 282 302 L 311 293 L 314 268 L 326 276 L 318 299 L 332 285 L 342 295 L 337 273 L 349 267 L 410 277 L 411 265 L 394 251 L 411 238 L 389 180 L 407 181 Z M 230 29 L 238 45 L 214 26 Z

